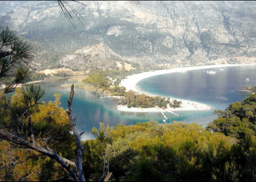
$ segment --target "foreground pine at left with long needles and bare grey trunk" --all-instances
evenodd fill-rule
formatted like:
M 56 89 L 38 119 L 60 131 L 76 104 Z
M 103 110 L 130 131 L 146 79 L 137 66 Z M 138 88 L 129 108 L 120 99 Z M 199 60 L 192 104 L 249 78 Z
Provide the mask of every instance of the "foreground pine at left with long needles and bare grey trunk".
M 0 27 L 0 82 L 3 91 L 0 93 L 0 140 L 7 140 L 19 148 L 29 148 L 54 159 L 60 167 L 75 181 L 85 181 L 82 169 L 82 145 L 76 128 L 76 117 L 73 118 L 72 100 L 74 85 L 71 86 L 68 100 L 69 121 L 76 140 L 76 162 L 62 157 L 51 149 L 47 137 L 42 138 L 38 133 L 41 125 L 37 125 L 32 116 L 38 105 L 44 104 L 40 99 L 45 91 L 34 84 L 27 84 L 32 71 L 31 46 L 19 38 L 9 27 Z M 15 91 L 18 85 L 24 84 L 18 95 L 18 102 L 12 102 L 7 94 Z M 39 132 L 37 132 L 39 131 Z M 71 168 L 74 166 L 74 168 Z

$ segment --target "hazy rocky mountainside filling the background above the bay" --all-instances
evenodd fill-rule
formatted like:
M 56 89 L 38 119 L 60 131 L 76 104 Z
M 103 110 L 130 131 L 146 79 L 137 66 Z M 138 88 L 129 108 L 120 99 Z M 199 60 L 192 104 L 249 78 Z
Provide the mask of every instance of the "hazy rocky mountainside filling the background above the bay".
M 256 57 L 255 1 L 82 2 L 88 6 L 70 2 L 85 19 L 82 25 L 75 18 L 77 29 L 57 1 L 19 4 L 0 13 L 0 24 L 38 44 L 38 70 L 109 69 L 126 60 L 153 68 Z M 10 7 L 10 3 L 0 5 Z

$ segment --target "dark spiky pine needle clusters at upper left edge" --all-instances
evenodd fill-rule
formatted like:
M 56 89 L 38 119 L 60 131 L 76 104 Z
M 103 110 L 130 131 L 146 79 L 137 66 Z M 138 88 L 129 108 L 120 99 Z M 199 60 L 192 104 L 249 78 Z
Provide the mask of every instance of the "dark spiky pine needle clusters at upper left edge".
M 0 83 L 5 85 L 3 96 L 29 80 L 33 58 L 31 49 L 9 27 L 0 26 Z

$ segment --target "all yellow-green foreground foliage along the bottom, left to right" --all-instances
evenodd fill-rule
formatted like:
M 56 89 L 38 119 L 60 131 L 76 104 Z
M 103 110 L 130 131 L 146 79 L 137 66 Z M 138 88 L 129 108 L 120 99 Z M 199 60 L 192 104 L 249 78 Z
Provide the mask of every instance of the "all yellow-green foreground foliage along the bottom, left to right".
M 13 95 L 12 104 L 20 102 L 20 91 Z M 75 160 L 71 125 L 65 110 L 59 107 L 60 94 L 55 98 L 36 107 L 31 118 L 34 134 L 37 141 L 45 141 L 56 153 Z M 100 123 L 98 129 L 91 130 L 95 139 L 81 141 L 85 180 L 100 180 L 104 173 L 111 174 L 112 181 L 254 181 L 255 98 L 250 94 L 241 104 L 232 103 L 226 111 L 216 111 L 218 119 L 206 129 L 196 123 L 159 124 L 153 119 L 116 127 Z M 5 130 L 12 130 L 11 120 L 4 120 L 1 127 L 8 125 Z M 1 180 L 69 179 L 51 158 L 11 144 L 6 140 L 0 143 Z

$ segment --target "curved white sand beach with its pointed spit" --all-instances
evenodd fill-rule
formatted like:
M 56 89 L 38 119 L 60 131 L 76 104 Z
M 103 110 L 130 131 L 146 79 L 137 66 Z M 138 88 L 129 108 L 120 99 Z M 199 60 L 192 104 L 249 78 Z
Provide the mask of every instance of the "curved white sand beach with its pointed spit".
M 143 80 L 144 78 L 148 78 L 151 76 L 156 75 L 162 75 L 167 73 L 174 73 L 174 72 L 186 72 L 191 70 L 200 70 L 200 69 L 209 69 L 209 68 L 222 68 L 222 67 L 229 67 L 229 66 L 249 66 L 249 65 L 255 65 L 255 64 L 220 64 L 220 65 L 206 65 L 206 66 L 191 66 L 191 67 L 181 67 L 181 68 L 173 68 L 170 70 L 156 70 L 156 71 L 149 71 L 149 72 L 143 72 L 131 76 L 127 76 L 127 78 L 123 79 L 120 83 L 121 86 L 126 88 L 126 91 L 133 90 L 138 94 L 145 94 L 147 96 L 160 96 L 160 95 L 153 95 L 147 92 L 143 92 L 137 89 L 136 84 L 138 81 Z M 163 97 L 163 96 L 161 96 Z M 206 111 L 211 110 L 212 107 L 206 104 L 202 104 L 195 101 L 189 101 L 189 100 L 183 100 L 183 99 L 177 99 L 177 98 L 170 98 L 170 100 L 177 100 L 182 101 L 182 107 L 180 108 L 170 108 L 168 107 L 166 109 L 161 108 L 128 108 L 127 106 L 120 106 L 118 105 L 117 108 L 119 111 L 126 111 L 126 112 L 173 112 L 173 111 Z

